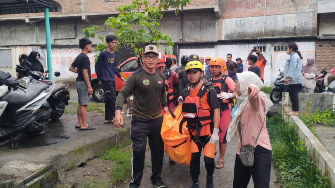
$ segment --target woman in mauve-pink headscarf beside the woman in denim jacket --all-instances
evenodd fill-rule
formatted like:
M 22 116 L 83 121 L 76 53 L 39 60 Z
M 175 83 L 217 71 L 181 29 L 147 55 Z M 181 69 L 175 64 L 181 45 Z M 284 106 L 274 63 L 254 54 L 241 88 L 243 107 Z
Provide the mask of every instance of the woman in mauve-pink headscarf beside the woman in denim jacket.
M 314 89 L 316 86 L 316 73 L 317 68 L 315 65 L 315 61 L 312 58 L 307 59 L 307 63 L 303 66 L 303 76 L 304 76 L 304 83 L 303 87 L 305 87 L 305 93 L 314 93 Z

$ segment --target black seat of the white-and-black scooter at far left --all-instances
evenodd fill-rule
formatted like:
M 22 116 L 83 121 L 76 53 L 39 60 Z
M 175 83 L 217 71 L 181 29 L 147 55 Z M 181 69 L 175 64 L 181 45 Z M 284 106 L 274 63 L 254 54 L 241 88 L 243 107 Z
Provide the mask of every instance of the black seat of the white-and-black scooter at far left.
M 44 92 L 49 85 L 47 84 L 32 84 L 28 85 L 24 91 L 17 89 L 9 92 L 0 101 L 7 101 L 8 105 L 25 105 Z

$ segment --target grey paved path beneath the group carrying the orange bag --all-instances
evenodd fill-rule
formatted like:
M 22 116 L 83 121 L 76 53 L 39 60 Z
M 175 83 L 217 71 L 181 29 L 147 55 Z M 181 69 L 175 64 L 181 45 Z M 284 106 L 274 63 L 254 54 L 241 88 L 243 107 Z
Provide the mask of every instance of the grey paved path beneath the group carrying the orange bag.
M 231 188 L 233 182 L 233 174 L 234 174 L 234 164 L 235 164 L 235 156 L 236 156 L 236 146 L 237 146 L 237 136 L 235 136 L 231 142 L 228 144 L 228 150 L 225 154 L 225 166 L 222 169 L 215 169 L 213 177 L 214 177 L 214 185 L 215 187 L 220 188 Z M 219 152 L 219 147 L 216 147 L 216 151 Z M 146 152 L 146 161 L 145 161 L 145 170 L 143 174 L 143 179 L 141 182 L 141 187 L 155 187 L 151 181 L 151 160 L 150 160 L 150 150 L 147 148 Z M 215 156 L 215 162 L 218 160 L 218 154 Z M 205 163 L 202 158 L 200 159 L 200 175 L 199 175 L 199 183 L 200 187 L 206 186 L 206 169 Z M 179 164 L 170 165 L 168 161 L 168 156 L 165 154 L 163 159 L 163 171 L 162 171 L 162 180 L 165 182 L 166 187 L 190 187 L 192 185 L 192 180 L 190 177 L 189 167 Z M 271 170 L 271 183 L 270 187 L 277 187 L 275 182 L 277 181 L 277 177 L 275 171 Z M 125 185 L 124 188 L 128 187 Z M 248 188 L 254 187 L 252 179 L 248 185 Z

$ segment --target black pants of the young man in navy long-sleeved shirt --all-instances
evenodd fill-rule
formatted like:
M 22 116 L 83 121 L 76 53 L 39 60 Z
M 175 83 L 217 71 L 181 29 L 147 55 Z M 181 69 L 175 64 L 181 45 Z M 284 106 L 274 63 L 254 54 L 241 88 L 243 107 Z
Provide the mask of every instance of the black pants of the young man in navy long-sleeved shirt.
M 105 90 L 105 120 L 113 120 L 115 116 L 115 101 L 116 101 L 116 93 L 115 93 L 115 82 L 106 81 L 101 82 L 103 89 Z

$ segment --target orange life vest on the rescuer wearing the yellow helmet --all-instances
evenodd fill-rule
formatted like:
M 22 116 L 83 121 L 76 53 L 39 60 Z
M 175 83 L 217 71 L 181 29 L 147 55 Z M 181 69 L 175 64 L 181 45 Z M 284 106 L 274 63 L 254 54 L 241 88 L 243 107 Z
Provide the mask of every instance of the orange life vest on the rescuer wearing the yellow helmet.
M 213 133 L 213 113 L 207 103 L 207 101 L 202 101 L 204 95 L 207 95 L 208 91 L 213 89 L 211 82 L 204 82 L 200 87 L 196 96 L 192 97 L 189 95 L 190 84 L 186 87 L 186 98 L 182 104 L 182 115 L 187 121 L 187 127 L 190 130 L 195 130 L 195 137 L 198 140 L 200 130 L 203 125 L 210 124 L 210 132 Z M 196 142 L 196 141 L 195 141 Z

